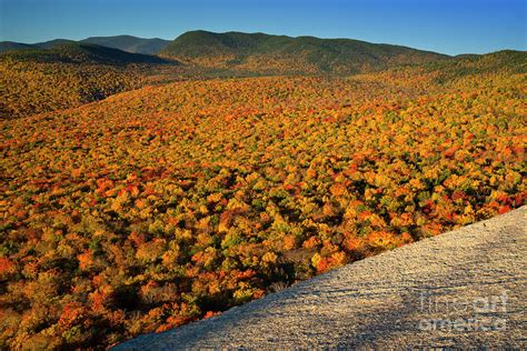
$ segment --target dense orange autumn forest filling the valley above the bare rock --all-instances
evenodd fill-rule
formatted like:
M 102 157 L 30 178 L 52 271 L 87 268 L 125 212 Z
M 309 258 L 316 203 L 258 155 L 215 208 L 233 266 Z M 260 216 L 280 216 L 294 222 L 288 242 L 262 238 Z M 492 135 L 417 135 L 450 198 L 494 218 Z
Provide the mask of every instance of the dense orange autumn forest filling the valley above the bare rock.
M 111 345 L 524 204 L 525 62 L 152 87 L 3 60 L 0 348 Z

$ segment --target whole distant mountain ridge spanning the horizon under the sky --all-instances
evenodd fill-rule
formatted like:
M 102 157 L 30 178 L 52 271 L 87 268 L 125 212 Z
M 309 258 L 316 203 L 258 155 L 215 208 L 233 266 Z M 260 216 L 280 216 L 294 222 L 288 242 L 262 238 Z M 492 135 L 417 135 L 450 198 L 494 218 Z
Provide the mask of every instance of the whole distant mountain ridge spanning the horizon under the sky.
M 80 51 L 83 53 L 81 54 Z M 511 67 L 525 71 L 524 51 L 456 57 L 402 46 L 354 39 L 321 39 L 265 33 L 188 31 L 175 40 L 132 36 L 90 37 L 80 41 L 54 39 L 34 44 L 0 42 L 0 53 L 21 60 L 71 60 L 91 63 L 166 62 L 198 68 L 207 74 L 354 74 L 399 66 L 470 69 Z M 133 57 L 133 54 L 140 54 Z M 473 62 L 473 63 L 471 63 Z M 476 64 L 475 62 L 480 62 Z M 479 67 L 479 68 L 478 68 Z M 467 70 L 468 68 L 468 70 Z

